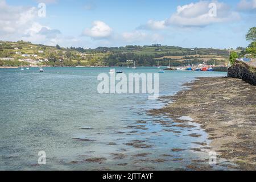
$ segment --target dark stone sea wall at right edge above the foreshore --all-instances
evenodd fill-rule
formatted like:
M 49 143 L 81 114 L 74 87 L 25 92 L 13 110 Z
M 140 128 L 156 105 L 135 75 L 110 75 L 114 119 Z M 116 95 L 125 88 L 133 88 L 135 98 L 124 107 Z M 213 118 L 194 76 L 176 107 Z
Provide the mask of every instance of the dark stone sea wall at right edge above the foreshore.
M 240 78 L 251 85 L 256 85 L 256 68 L 243 61 L 236 61 L 228 69 L 228 77 Z

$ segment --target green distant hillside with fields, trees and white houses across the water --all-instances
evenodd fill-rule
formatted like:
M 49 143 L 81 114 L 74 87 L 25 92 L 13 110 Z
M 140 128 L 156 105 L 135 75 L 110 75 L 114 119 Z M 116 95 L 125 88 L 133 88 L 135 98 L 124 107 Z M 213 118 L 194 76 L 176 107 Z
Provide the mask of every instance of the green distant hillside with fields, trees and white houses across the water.
M 238 50 L 237 50 L 238 51 Z M 238 51 L 239 52 L 239 51 Z M 45 46 L 30 42 L 0 41 L 0 66 L 49 65 L 61 67 L 74 66 L 126 66 L 127 60 L 135 60 L 137 65 L 174 66 L 196 64 L 207 61 L 208 64 L 225 64 L 229 57 L 226 49 L 182 48 L 175 46 L 125 46 L 63 48 L 59 45 Z

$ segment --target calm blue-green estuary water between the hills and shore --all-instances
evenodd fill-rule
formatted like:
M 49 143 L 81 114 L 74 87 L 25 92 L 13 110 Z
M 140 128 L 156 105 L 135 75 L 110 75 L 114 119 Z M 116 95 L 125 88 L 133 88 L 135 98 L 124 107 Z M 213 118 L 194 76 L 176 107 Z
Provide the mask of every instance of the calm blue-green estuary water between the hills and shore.
M 116 69 L 158 72 L 156 68 Z M 209 143 L 199 125 L 176 127 L 175 118 L 146 114 L 164 106 L 162 101 L 147 100 L 147 94 L 97 93 L 97 76 L 109 68 L 0 71 L 1 170 L 172 170 L 208 158 L 206 152 L 189 150 L 201 147 L 192 142 Z M 159 75 L 160 95 L 175 94 L 184 89 L 181 84 L 199 76 L 226 73 L 166 71 Z M 201 137 L 189 137 L 192 133 Z M 173 152 L 173 148 L 185 150 Z M 46 151 L 46 165 L 37 165 L 39 151 Z

